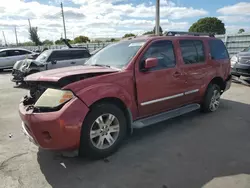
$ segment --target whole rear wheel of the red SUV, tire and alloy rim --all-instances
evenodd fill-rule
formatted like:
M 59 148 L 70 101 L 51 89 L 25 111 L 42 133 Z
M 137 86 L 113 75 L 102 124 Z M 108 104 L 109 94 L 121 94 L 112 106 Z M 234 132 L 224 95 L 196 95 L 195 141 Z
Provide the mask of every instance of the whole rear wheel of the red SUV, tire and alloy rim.
M 219 108 L 221 89 L 217 84 L 209 84 L 203 103 L 202 112 L 214 112 Z

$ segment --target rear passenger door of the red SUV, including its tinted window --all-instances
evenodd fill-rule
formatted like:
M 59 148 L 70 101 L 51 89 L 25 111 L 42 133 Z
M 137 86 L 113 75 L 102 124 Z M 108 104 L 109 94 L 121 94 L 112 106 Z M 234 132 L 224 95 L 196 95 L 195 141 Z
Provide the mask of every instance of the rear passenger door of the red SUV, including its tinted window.
M 193 103 L 200 101 L 200 91 L 205 87 L 205 78 L 209 74 L 207 56 L 203 40 L 179 40 L 180 68 L 186 77 L 184 102 Z

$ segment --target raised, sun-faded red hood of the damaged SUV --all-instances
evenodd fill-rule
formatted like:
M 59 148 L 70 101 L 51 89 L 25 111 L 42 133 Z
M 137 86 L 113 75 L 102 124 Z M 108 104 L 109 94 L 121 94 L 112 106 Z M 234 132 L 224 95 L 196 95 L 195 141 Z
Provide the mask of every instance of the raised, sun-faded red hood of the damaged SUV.
M 73 77 L 77 75 L 88 75 L 88 74 L 104 74 L 117 72 L 118 69 L 98 66 L 72 66 L 64 67 L 53 70 L 47 70 L 35 74 L 31 74 L 25 78 L 25 81 L 41 81 L 41 82 L 58 82 L 62 78 Z

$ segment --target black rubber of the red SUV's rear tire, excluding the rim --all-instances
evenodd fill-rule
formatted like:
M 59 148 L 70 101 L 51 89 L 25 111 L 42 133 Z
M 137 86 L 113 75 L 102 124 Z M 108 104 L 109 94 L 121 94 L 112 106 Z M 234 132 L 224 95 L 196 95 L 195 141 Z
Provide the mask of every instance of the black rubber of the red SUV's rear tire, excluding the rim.
M 220 94 L 221 93 L 220 87 L 217 84 L 209 84 L 207 91 L 206 91 L 206 94 L 205 94 L 205 97 L 204 97 L 204 100 L 203 100 L 203 103 L 201 104 L 201 111 L 202 112 L 214 112 L 218 109 L 219 105 L 218 105 L 216 110 L 212 110 L 210 108 L 210 104 L 211 104 L 211 101 L 213 100 L 213 95 L 214 95 L 215 91 L 217 91 Z

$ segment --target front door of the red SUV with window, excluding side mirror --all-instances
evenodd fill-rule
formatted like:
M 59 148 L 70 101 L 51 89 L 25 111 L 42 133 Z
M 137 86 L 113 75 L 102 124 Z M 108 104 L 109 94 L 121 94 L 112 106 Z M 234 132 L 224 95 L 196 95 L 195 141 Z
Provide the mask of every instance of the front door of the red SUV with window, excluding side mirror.
M 172 41 L 161 39 L 151 42 L 139 57 L 135 76 L 140 117 L 181 105 L 185 81 L 181 77 L 175 54 Z M 158 65 L 142 71 L 147 58 L 157 58 Z

